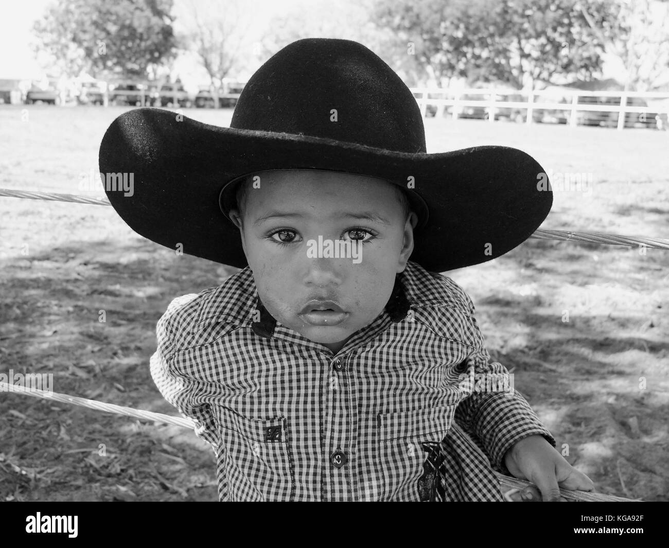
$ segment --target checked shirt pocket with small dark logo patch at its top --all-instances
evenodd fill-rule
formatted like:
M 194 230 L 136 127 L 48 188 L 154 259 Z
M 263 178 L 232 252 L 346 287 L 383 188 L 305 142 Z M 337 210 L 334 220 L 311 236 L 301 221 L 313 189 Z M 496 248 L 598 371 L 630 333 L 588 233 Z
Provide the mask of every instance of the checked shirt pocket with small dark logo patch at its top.
M 226 407 L 217 408 L 216 418 L 225 450 L 227 500 L 292 500 L 286 418 L 251 419 Z

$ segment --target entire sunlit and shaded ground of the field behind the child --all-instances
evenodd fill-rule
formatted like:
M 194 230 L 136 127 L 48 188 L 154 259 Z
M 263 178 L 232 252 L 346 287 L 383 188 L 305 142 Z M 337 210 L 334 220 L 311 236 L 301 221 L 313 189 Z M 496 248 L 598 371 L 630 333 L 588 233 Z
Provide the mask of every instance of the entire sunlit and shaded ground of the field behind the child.
M 82 193 L 124 110 L 0 107 L 0 187 Z M 591 174 L 590 192 L 555 191 L 543 228 L 669 238 L 669 132 L 434 118 L 425 130 L 429 153 L 506 145 Z M 111 207 L 9 197 L 0 267 L 0 373 L 53 373 L 54 391 L 168 414 L 149 374 L 155 324 L 175 296 L 234 272 L 143 240 Z M 531 239 L 447 275 L 567 460 L 600 492 L 669 500 L 669 252 Z M 0 393 L 0 500 L 216 498 L 213 454 L 190 432 Z

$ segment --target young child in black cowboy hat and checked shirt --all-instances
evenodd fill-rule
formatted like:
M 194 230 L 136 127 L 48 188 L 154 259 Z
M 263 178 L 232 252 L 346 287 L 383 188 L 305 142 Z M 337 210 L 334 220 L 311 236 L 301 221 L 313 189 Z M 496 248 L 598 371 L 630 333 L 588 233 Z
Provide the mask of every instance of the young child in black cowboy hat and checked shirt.
M 593 489 L 438 274 L 527 240 L 543 169 L 506 147 L 428 155 L 411 92 L 363 45 L 288 45 L 230 128 L 126 112 L 100 171 L 134 174 L 106 189 L 133 230 L 241 269 L 173 300 L 151 359 L 215 450 L 219 500 L 504 500 L 493 470 L 535 500 Z

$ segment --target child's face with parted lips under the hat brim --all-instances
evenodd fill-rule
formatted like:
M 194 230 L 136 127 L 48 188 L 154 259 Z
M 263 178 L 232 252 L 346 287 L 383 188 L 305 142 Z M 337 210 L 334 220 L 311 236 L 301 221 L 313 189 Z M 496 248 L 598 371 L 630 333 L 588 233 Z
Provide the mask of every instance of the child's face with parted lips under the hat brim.
M 413 251 L 416 215 L 405 219 L 391 183 L 381 179 L 311 170 L 259 175 L 260 188 L 246 190 L 244 217 L 230 211 L 258 295 L 279 323 L 336 353 L 383 311 Z M 318 251 L 319 236 L 365 243 L 353 244 L 349 258 L 308 255 Z M 305 312 L 312 299 L 332 301 L 343 313 Z

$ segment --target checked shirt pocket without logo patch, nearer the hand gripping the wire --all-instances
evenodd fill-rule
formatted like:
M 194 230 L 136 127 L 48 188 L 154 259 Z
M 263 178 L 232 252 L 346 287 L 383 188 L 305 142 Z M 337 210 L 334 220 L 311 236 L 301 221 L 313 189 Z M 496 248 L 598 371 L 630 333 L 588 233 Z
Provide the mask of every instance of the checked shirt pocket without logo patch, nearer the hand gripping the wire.
M 444 439 L 457 406 L 453 403 L 377 415 L 381 500 L 418 500 L 418 479 L 427 458 L 422 444 Z

